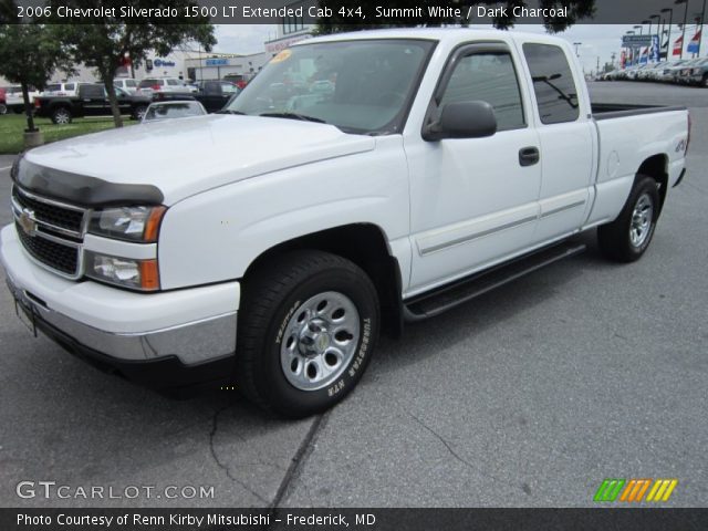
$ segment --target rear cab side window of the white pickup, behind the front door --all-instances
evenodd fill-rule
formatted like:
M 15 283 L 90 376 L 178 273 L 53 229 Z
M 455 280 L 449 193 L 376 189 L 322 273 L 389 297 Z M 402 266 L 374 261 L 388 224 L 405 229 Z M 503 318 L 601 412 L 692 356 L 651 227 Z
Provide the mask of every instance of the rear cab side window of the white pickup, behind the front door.
M 580 116 L 577 87 L 565 53 L 551 44 L 525 43 L 533 91 L 543 124 L 575 122 Z

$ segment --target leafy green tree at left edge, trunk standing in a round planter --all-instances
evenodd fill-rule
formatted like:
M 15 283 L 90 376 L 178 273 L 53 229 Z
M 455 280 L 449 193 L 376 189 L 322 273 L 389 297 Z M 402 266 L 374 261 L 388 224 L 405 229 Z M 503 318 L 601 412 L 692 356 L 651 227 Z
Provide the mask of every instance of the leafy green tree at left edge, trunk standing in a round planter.
M 0 24 L 0 75 L 22 86 L 27 131 L 38 131 L 32 117 L 29 86 L 43 90 L 55 70 L 69 70 L 69 55 L 56 29 L 41 24 Z

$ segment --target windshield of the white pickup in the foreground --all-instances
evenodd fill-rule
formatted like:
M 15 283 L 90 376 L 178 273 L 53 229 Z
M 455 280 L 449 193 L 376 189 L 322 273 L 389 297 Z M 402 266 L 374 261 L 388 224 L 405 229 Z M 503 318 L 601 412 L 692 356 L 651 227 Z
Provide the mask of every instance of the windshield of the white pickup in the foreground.
M 388 39 L 283 50 L 225 111 L 311 119 L 347 133 L 395 133 L 433 46 Z

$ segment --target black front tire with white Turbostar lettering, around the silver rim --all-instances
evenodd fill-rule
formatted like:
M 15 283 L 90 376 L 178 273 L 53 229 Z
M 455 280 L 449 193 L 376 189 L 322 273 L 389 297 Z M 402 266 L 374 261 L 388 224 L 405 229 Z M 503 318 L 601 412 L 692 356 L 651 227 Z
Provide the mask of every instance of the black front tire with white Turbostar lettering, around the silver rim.
M 361 379 L 378 337 L 378 296 L 366 273 L 342 257 L 322 251 L 293 251 L 274 260 L 243 284 L 233 379 L 241 393 L 261 407 L 301 418 L 334 406 Z M 355 306 L 361 323 L 358 337 L 350 340 L 356 341 L 352 357 L 347 363 L 342 361 L 332 373 L 336 374 L 332 383 L 303 391 L 289 381 L 292 376 L 285 375 L 281 363 L 282 348 L 289 341 L 287 327 L 293 319 L 299 321 L 298 314 L 305 301 L 329 292 L 345 295 Z M 296 335 L 294 332 L 293 336 Z M 300 345 L 299 341 L 295 343 L 293 351 Z

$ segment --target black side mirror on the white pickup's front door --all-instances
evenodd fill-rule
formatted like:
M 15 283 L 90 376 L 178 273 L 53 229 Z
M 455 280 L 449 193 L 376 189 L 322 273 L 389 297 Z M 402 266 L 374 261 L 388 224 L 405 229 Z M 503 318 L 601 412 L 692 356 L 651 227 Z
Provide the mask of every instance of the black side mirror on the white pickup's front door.
M 423 129 L 423 138 L 483 138 L 497 133 L 497 116 L 487 102 L 452 102 L 442 107 L 440 119 Z

